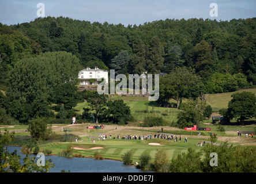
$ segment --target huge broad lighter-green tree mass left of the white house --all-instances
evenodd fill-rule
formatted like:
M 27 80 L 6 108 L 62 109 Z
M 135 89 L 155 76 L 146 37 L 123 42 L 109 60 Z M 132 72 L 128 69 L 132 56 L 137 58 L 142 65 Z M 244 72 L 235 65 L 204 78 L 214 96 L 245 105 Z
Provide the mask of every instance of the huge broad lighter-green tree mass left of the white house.
M 7 76 L 6 96 L 10 98 L 7 112 L 20 122 L 51 117 L 48 105 L 54 90 L 67 82 L 76 84 L 78 67 L 77 57 L 67 52 L 46 52 L 18 61 Z

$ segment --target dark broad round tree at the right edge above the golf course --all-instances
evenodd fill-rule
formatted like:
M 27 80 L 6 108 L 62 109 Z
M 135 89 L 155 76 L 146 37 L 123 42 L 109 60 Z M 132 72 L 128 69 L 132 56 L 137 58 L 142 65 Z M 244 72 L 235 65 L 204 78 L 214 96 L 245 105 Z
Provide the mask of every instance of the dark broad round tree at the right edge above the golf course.
M 254 93 L 243 91 L 231 95 L 227 113 L 230 118 L 237 118 L 243 124 L 244 120 L 256 117 L 256 97 Z

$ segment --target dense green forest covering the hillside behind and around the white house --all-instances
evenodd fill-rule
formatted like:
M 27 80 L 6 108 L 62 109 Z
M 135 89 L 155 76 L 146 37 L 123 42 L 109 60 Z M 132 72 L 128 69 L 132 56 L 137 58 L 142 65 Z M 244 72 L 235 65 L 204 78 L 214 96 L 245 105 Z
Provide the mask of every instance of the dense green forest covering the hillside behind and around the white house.
M 78 71 L 87 66 L 122 74 L 163 73 L 160 85 L 167 86 L 179 85 L 175 76 L 194 80 L 197 85 L 189 80 L 179 99 L 251 87 L 256 85 L 255 30 L 256 18 L 167 19 L 128 26 L 64 17 L 0 23 L 0 89 L 5 91 L 0 113 L 27 122 L 52 116 L 47 110 L 51 103 L 70 110 L 76 103 L 59 94 L 79 98 L 74 85 Z

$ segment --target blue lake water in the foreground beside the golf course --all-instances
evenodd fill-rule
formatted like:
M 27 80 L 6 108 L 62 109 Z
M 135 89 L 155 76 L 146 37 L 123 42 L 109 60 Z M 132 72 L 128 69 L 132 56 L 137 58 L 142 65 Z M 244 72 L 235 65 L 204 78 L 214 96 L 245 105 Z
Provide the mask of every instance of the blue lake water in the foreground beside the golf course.
M 21 147 L 7 146 L 9 152 L 17 150 L 17 154 L 21 159 L 25 154 L 21 153 Z M 61 156 L 45 156 L 45 159 L 51 159 L 55 164 L 49 173 L 60 173 L 62 170 L 71 173 L 142 173 L 140 169 L 134 166 L 125 166 L 123 162 L 115 160 L 95 160 L 89 158 L 65 158 Z M 148 172 L 148 171 L 147 171 Z

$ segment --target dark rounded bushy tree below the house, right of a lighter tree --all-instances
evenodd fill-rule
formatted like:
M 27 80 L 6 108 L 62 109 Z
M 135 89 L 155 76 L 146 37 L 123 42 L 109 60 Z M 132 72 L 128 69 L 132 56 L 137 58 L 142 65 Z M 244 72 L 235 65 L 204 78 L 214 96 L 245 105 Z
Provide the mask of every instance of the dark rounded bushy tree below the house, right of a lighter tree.
M 125 124 L 131 120 L 130 107 L 122 99 L 107 102 L 107 116 L 114 124 Z

